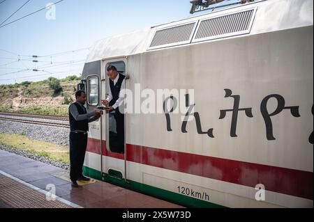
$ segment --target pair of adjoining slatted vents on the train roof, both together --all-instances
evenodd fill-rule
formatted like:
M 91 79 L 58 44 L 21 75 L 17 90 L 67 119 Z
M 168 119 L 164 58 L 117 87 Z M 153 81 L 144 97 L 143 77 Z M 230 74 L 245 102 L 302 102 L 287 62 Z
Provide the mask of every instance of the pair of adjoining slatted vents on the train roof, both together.
M 204 19 L 159 29 L 147 50 L 248 34 L 256 12 L 257 7 L 247 8 L 229 15 L 202 16 Z

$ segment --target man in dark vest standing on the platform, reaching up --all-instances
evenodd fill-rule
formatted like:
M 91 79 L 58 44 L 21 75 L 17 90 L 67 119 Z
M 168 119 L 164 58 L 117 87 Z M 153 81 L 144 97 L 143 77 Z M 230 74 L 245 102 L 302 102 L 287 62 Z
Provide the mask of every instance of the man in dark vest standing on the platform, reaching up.
M 78 90 L 75 93 L 76 102 L 69 106 L 70 120 L 70 180 L 72 187 L 78 187 L 77 180 L 89 181 L 88 177 L 82 174 L 85 152 L 87 148 L 87 132 L 89 122 L 100 118 L 100 111 L 87 113 L 84 106 L 86 93 Z

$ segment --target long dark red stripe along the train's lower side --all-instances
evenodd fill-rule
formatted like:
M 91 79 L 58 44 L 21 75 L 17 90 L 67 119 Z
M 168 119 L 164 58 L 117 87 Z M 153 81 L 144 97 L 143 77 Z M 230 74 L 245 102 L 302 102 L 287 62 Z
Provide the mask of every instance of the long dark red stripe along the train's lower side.
M 247 187 L 264 184 L 268 191 L 313 200 L 312 172 L 148 148 L 142 145 L 127 144 L 126 148 L 128 151 L 127 160 L 135 163 L 208 177 Z M 100 154 L 100 141 L 89 138 L 87 151 Z M 124 159 L 124 154 L 108 152 L 105 141 L 103 141 L 103 155 Z

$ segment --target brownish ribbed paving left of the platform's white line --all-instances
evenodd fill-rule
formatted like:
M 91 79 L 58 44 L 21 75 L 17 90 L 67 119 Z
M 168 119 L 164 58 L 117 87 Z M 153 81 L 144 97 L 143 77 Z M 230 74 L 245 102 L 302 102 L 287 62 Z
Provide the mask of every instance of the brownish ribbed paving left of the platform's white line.
M 44 193 L 4 175 L 0 175 L 0 200 L 13 208 L 72 208 L 59 200 L 48 201 Z

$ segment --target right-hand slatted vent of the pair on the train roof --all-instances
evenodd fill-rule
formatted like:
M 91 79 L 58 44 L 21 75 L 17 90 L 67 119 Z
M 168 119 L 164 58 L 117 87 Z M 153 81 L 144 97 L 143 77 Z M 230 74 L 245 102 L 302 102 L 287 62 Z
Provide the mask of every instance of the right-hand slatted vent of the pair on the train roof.
M 250 33 L 256 9 L 200 20 L 192 42 Z

